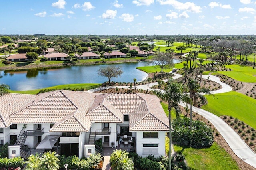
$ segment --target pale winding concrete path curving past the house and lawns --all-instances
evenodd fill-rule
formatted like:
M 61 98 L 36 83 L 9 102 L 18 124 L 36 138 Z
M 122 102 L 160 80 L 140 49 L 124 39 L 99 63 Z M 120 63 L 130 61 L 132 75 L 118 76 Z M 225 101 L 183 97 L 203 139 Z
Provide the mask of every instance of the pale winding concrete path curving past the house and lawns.
M 177 79 L 181 77 L 181 75 L 174 74 L 174 79 Z M 229 91 L 232 91 L 232 88 L 220 81 L 220 79 L 213 75 L 202 75 L 202 78 L 204 79 L 210 79 L 211 81 L 215 81 L 216 83 L 219 83 L 222 85 L 222 89 L 212 91 L 212 94 L 218 94 L 218 93 L 226 93 Z M 166 82 L 167 80 L 165 80 Z M 158 83 L 150 83 L 149 87 L 152 87 L 154 85 L 158 85 Z M 104 87 L 105 89 L 108 88 L 129 88 L 127 86 L 112 86 L 112 87 Z M 136 86 L 138 89 L 146 90 L 148 88 L 147 85 L 138 85 Z M 100 88 L 98 88 L 100 89 Z M 98 89 L 92 89 L 88 90 L 89 92 L 96 92 Z M 152 90 L 149 88 L 149 90 Z M 183 107 L 186 107 L 184 103 L 180 103 Z M 190 105 L 188 105 L 190 108 Z M 220 132 L 220 134 L 223 136 L 223 138 L 226 140 L 230 148 L 233 150 L 233 152 L 244 162 L 248 163 L 249 165 L 256 168 L 256 154 L 250 149 L 250 147 L 240 138 L 240 136 L 227 124 L 225 123 L 220 117 L 214 115 L 213 113 L 210 113 L 206 110 L 199 109 L 197 107 L 193 106 L 193 111 L 198 113 L 199 115 L 202 115 L 206 119 L 208 119 L 214 127 Z M 106 160 L 109 158 L 106 158 Z M 105 161 L 104 161 L 105 163 Z M 107 164 L 107 162 L 105 163 Z M 104 167 L 104 166 L 103 166 Z M 104 168 L 105 169 L 105 168 Z

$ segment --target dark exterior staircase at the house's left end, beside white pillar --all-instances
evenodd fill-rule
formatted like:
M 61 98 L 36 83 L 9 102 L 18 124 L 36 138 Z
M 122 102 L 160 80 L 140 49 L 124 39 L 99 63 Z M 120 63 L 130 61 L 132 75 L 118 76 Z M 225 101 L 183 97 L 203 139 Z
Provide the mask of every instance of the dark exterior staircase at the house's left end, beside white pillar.
M 20 134 L 14 145 L 20 146 L 20 156 L 22 158 L 27 158 L 31 154 L 30 149 L 24 145 L 26 142 L 26 139 L 27 139 L 27 132 L 24 132 L 24 129 L 20 130 Z

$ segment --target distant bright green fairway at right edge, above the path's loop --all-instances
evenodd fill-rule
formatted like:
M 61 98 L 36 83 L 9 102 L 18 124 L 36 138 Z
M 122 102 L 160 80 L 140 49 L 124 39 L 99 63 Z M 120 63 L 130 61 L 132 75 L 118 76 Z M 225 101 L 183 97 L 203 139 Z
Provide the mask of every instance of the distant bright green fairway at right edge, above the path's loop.
M 226 68 L 230 68 L 232 71 L 218 71 L 218 73 L 227 75 L 238 81 L 256 82 L 256 69 L 252 69 L 250 66 L 226 65 Z

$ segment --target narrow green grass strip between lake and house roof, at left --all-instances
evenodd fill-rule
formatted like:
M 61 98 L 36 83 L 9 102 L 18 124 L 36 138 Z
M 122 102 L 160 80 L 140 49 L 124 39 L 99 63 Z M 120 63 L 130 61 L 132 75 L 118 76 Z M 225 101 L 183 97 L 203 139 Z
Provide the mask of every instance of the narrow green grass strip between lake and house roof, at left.
M 80 89 L 84 88 L 86 90 L 94 89 L 97 87 L 100 87 L 101 84 L 96 84 L 96 83 L 84 83 L 84 84 L 66 84 L 66 85 L 57 85 L 57 86 L 52 86 L 52 87 L 47 87 L 44 89 L 65 89 L 65 88 L 70 88 L 70 89 Z M 10 93 L 21 93 L 21 94 L 38 94 L 40 90 L 44 89 L 36 89 L 36 90 L 26 90 L 26 91 L 14 91 L 10 90 Z

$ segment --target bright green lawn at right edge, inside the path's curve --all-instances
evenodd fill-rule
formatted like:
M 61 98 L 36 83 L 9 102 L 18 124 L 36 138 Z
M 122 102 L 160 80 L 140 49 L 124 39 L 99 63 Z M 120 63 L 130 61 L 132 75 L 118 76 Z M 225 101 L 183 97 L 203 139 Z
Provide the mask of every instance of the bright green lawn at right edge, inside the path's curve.
M 228 115 L 238 118 L 251 127 L 256 128 L 255 99 L 236 91 L 207 95 L 206 98 L 208 105 L 203 106 L 202 109 L 217 116 Z

